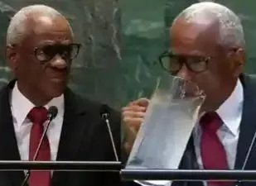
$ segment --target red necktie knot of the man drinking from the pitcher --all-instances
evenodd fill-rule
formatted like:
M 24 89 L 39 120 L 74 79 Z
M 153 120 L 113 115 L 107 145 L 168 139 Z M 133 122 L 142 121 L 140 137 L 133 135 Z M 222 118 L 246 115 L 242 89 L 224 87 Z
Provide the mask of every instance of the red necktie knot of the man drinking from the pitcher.
M 221 118 L 216 112 L 207 112 L 200 118 L 200 126 L 205 131 L 215 133 L 221 125 Z

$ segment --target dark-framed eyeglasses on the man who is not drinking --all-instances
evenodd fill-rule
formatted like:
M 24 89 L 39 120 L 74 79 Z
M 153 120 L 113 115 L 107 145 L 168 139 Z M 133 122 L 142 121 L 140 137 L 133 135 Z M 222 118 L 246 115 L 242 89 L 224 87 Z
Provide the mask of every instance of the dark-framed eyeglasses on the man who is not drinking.
M 57 54 L 63 60 L 74 60 L 79 54 L 81 44 L 72 43 L 69 45 L 55 44 L 55 45 L 41 45 L 34 48 L 36 59 L 40 62 L 47 62 L 52 60 Z

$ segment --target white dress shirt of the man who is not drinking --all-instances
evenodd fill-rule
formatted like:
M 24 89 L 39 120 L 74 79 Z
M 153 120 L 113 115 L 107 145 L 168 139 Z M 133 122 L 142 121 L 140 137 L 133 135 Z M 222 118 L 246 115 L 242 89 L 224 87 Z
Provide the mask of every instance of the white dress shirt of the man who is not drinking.
M 27 119 L 27 114 L 31 111 L 33 107 L 35 107 L 35 105 L 31 103 L 25 96 L 23 96 L 23 94 L 19 91 L 17 87 L 17 83 L 12 89 L 10 103 L 12 120 L 17 138 L 17 146 L 20 152 L 21 160 L 28 160 L 29 139 L 32 122 Z M 60 132 L 64 116 L 63 94 L 58 98 L 53 98 L 50 103 L 45 105 L 46 109 L 51 106 L 56 106 L 58 108 L 58 114 L 56 118 L 54 118 L 50 123 L 46 134 L 51 148 L 51 160 L 56 160 L 58 146 L 60 142 Z M 46 126 L 46 122 L 44 126 Z

